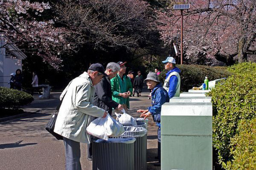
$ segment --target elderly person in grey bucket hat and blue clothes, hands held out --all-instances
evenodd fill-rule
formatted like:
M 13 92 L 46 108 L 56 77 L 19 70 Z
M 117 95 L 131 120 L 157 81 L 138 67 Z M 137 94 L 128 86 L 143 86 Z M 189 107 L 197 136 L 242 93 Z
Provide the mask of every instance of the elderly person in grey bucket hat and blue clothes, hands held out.
M 161 107 L 164 103 L 169 102 L 169 95 L 167 91 L 162 87 L 162 83 L 159 81 L 159 78 L 156 73 L 150 72 L 147 75 L 147 78 L 144 80 L 147 82 L 148 88 L 152 89 L 151 92 L 151 104 L 147 110 L 137 110 L 140 112 L 140 117 L 153 116 L 154 122 L 158 126 L 157 130 L 157 151 L 158 156 L 156 157 L 159 159 L 159 163 L 155 163 L 155 166 L 160 166 L 161 162 Z

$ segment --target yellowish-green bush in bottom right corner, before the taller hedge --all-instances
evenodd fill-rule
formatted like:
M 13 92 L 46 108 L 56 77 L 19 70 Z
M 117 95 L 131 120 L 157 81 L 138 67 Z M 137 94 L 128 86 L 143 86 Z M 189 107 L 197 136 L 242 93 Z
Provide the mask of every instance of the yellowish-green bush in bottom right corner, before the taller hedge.
M 231 139 L 230 153 L 234 160 L 224 164 L 227 170 L 256 169 L 256 119 L 242 120 L 238 125 L 238 133 Z

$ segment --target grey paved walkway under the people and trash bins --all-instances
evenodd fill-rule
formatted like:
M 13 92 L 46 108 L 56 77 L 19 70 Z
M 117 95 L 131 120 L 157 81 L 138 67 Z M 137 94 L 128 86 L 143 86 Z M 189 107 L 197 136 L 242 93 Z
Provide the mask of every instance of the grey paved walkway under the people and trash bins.
M 139 117 L 137 109 L 146 109 L 150 105 L 148 90 L 143 89 L 142 97 L 132 97 L 130 111 Z M 52 94 L 51 99 L 35 97 L 35 101 L 24 107 L 27 117 L 0 123 L 0 169 L 1 170 L 64 170 L 65 153 L 63 141 L 54 139 L 46 130 L 50 114 L 58 104 L 60 94 Z M 157 127 L 149 118 L 147 140 L 147 169 L 154 167 L 157 160 Z M 91 170 L 92 162 L 87 160 L 87 145 L 81 143 L 81 164 L 83 170 Z

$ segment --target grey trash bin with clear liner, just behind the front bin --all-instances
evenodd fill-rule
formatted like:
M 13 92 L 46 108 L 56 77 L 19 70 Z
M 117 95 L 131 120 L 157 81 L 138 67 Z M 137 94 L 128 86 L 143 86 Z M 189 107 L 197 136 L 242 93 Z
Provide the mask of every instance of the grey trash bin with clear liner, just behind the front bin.
M 147 170 L 147 129 L 144 127 L 126 126 L 122 137 L 134 137 L 135 151 L 134 164 L 135 170 Z

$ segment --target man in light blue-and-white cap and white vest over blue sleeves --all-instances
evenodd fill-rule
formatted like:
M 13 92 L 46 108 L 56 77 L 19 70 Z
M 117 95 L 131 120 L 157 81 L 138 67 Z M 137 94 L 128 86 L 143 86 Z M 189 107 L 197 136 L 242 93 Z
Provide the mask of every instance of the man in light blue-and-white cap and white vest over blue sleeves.
M 169 98 L 180 96 L 180 69 L 175 64 L 176 61 L 173 57 L 167 57 L 166 60 L 162 61 L 164 68 L 168 71 L 166 73 L 166 79 L 163 84 L 163 88 L 168 92 Z

